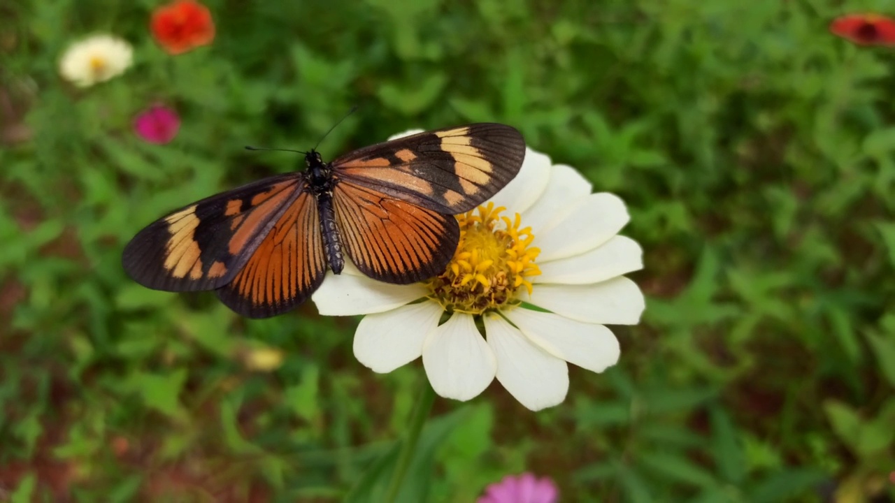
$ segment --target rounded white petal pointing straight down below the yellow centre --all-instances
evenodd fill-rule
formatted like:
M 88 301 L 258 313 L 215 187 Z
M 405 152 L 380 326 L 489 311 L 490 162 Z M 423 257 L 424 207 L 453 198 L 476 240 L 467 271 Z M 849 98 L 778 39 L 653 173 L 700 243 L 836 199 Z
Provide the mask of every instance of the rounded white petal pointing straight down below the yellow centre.
M 494 353 L 475 328 L 473 317 L 461 313 L 426 338 L 422 366 L 435 392 L 455 400 L 478 396 L 497 372 Z

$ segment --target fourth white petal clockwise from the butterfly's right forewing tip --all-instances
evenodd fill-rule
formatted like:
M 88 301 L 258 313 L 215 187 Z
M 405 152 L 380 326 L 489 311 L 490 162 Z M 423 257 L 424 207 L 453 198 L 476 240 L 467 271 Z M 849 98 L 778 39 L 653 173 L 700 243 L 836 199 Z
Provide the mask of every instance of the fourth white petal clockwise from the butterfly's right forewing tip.
M 585 285 L 644 269 L 644 250 L 633 239 L 617 235 L 590 252 L 566 259 L 538 260 L 535 283 Z

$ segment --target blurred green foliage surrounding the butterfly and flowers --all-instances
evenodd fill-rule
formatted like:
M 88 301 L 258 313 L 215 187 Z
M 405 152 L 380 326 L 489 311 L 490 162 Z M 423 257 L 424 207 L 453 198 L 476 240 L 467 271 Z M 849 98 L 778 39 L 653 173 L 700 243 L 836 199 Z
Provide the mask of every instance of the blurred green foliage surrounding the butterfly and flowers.
M 120 266 L 167 210 L 302 162 L 244 144 L 306 149 L 355 104 L 327 158 L 513 124 L 645 250 L 618 366 L 541 413 L 439 399 L 405 500 L 524 470 L 563 501 L 895 499 L 895 56 L 827 30 L 891 3 L 207 4 L 213 45 L 170 56 L 153 1 L 0 3 L 0 501 L 375 500 L 419 362 L 374 374 L 357 320 L 243 320 Z M 135 65 L 77 90 L 57 58 L 95 31 Z M 156 101 L 183 117 L 161 147 L 131 125 Z

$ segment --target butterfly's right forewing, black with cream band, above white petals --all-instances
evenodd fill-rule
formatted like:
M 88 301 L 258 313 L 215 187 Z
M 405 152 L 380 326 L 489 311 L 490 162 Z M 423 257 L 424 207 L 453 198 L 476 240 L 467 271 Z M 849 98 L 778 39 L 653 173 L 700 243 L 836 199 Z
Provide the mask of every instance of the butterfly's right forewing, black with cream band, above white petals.
M 453 215 L 502 189 L 524 157 L 522 134 L 485 123 L 386 141 L 337 158 L 332 166 L 337 180 Z

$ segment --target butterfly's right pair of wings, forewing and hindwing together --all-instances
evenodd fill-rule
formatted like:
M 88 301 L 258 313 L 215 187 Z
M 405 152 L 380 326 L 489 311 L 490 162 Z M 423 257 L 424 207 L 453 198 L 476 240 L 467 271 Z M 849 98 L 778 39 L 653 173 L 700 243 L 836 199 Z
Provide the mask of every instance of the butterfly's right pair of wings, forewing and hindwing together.
M 502 189 L 525 141 L 504 124 L 421 132 L 332 163 L 333 206 L 345 253 L 365 275 L 407 284 L 439 275 L 456 251 L 453 217 Z

